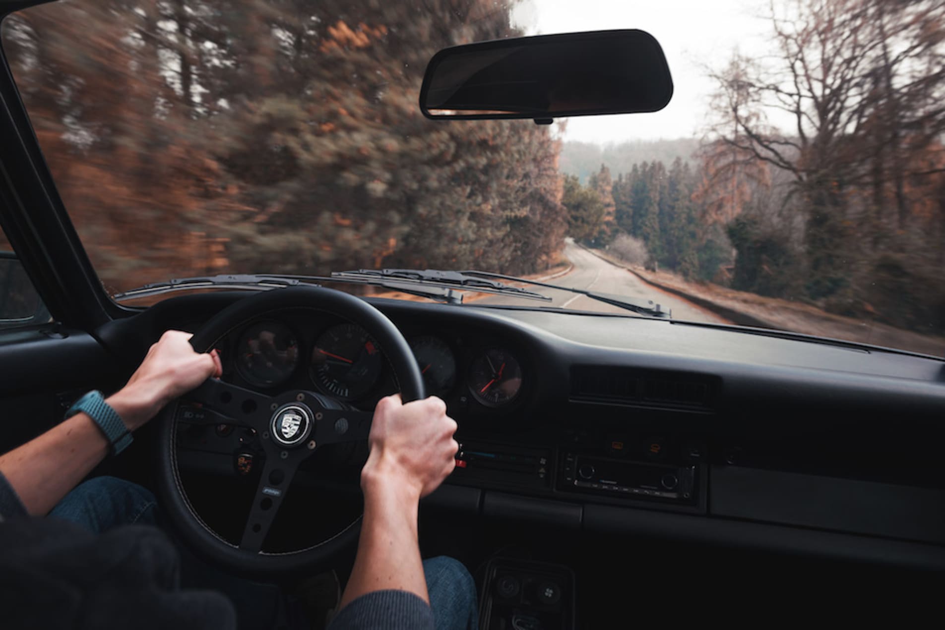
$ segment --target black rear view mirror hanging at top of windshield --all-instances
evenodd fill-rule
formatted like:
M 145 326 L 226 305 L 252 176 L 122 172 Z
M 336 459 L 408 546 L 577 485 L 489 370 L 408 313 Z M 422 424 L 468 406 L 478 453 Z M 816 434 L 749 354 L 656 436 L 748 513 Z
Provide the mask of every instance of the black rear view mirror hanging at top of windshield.
M 534 118 L 659 111 L 673 95 L 660 43 L 642 30 L 541 35 L 440 50 L 426 68 L 423 115 Z

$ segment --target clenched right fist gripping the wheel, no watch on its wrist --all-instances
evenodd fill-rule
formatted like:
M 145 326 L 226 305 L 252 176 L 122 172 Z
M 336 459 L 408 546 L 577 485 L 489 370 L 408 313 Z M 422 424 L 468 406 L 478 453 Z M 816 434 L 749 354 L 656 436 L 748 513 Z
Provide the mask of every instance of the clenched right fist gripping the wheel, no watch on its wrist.
M 382 399 L 374 409 L 362 487 L 395 481 L 425 497 L 455 468 L 455 432 L 455 420 L 436 396 L 406 404 L 397 394 Z

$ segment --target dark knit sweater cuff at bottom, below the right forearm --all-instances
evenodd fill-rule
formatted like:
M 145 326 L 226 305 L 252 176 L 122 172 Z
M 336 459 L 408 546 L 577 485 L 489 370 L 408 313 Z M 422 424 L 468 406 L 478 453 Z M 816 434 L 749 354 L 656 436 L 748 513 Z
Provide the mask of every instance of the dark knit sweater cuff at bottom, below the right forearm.
M 328 630 L 433 630 L 433 610 L 414 593 L 375 590 L 346 605 Z

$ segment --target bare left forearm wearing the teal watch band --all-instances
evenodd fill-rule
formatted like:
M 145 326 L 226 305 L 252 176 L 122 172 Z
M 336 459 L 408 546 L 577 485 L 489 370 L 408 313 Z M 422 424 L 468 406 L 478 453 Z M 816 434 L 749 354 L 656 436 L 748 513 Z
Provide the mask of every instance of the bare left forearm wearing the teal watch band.
M 107 401 L 132 428 L 140 423 L 140 405 L 126 392 Z M 132 424 L 133 423 L 133 424 Z M 43 516 L 109 453 L 109 442 L 91 417 L 77 414 L 23 446 L 0 455 L 0 472 L 26 511 Z

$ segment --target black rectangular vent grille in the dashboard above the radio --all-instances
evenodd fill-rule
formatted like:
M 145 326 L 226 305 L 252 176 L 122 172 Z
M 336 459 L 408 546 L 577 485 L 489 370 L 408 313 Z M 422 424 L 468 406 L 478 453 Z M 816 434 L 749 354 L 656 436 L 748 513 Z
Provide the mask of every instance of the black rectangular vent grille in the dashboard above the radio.
M 575 366 L 571 400 L 669 409 L 709 410 L 717 379 L 629 367 Z

